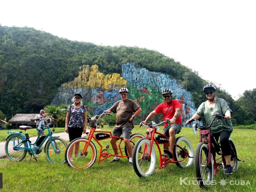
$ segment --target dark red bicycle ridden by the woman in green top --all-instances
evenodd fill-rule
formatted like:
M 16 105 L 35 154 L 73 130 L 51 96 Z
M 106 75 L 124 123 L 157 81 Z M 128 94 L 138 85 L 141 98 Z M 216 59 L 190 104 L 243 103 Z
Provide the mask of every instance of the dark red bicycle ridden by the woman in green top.
M 204 117 L 200 117 L 204 118 Z M 225 118 L 220 116 L 219 113 L 215 113 L 215 117 L 212 119 L 208 127 L 198 125 L 195 119 L 189 121 L 189 123 L 195 121 L 195 129 L 199 129 L 199 143 L 195 148 L 195 175 L 200 187 L 205 187 L 211 184 L 213 181 L 213 175 L 216 176 L 217 172 L 223 168 L 225 175 L 226 162 L 222 155 L 220 145 L 216 142 L 215 138 L 211 134 L 210 127 L 215 119 L 219 122 L 219 119 Z M 237 150 L 234 141 L 229 138 L 229 144 L 231 146 L 231 166 L 233 170 L 238 169 L 238 161 L 241 161 L 237 157 Z M 244 161 L 243 161 L 244 162 Z

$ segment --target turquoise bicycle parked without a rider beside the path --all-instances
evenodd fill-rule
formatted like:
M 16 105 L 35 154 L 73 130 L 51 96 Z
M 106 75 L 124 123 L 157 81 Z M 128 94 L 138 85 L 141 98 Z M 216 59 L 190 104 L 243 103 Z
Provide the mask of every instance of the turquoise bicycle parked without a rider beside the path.
M 22 131 L 7 131 L 9 136 L 5 139 L 6 156 L 12 161 L 22 161 L 28 152 L 30 154 L 29 161 L 31 161 L 32 155 L 33 158 L 37 161 L 37 155 L 42 152 L 42 145 L 49 138 L 44 147 L 46 158 L 52 163 L 65 163 L 65 150 L 67 147 L 67 142 L 60 138 L 60 136 L 52 136 L 55 128 L 53 128 L 53 131 L 50 130 L 52 120 L 56 119 L 50 117 L 47 121 L 45 119 L 36 120 L 45 121 L 47 123 L 47 127 L 41 129 L 35 143 L 32 143 L 29 140 L 29 134 L 27 133 L 27 130 L 32 129 L 32 127 L 20 126 L 20 130 L 24 130 L 26 134 L 24 134 Z M 40 137 L 43 130 L 46 129 L 48 129 L 48 134 Z

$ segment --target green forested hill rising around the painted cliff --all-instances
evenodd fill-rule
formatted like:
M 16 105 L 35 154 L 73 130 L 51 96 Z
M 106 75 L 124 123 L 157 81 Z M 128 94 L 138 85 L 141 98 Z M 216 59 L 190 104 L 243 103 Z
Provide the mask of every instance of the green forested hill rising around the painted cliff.
M 205 101 L 202 87 L 208 82 L 158 51 L 97 46 L 34 28 L 0 25 L 0 110 L 8 116 L 39 112 L 51 103 L 61 84 L 78 75 L 82 65 L 97 64 L 99 70 L 107 74 L 121 73 L 121 65 L 127 62 L 169 74 L 192 93 L 196 107 Z M 230 104 L 236 123 L 243 124 L 244 118 L 240 115 L 243 109 L 225 91 L 218 89 L 217 94 Z

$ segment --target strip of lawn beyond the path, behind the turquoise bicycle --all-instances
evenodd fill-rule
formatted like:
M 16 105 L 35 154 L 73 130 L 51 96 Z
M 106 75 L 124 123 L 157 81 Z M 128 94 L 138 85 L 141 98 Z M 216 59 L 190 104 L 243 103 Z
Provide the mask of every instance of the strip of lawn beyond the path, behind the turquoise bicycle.
M 53 128 L 51 128 L 51 131 Z M 7 131 L 14 131 L 14 132 L 20 132 L 22 130 L 20 129 L 12 129 L 12 130 L 1 130 L 0 131 L 0 142 L 5 142 L 5 138 L 8 137 Z M 65 128 L 55 128 L 54 134 L 56 133 L 62 133 L 65 131 Z M 22 131 L 25 134 L 25 131 Z M 27 133 L 29 134 L 29 137 L 37 137 L 37 129 L 29 129 L 27 130 Z M 48 130 L 44 130 L 44 134 L 48 134 Z

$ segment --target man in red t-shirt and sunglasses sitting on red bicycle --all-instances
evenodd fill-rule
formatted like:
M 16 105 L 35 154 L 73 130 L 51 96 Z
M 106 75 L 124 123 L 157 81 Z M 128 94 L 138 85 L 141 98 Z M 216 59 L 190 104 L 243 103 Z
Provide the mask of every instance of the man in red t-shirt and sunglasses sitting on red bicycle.
M 165 123 L 163 130 L 163 134 L 169 137 L 169 145 L 163 144 L 163 147 L 164 152 L 169 158 L 173 158 L 173 148 L 176 142 L 175 134 L 179 133 L 182 128 L 181 105 L 179 101 L 173 100 L 173 91 L 171 89 L 164 89 L 161 94 L 163 95 L 164 102 L 158 105 L 157 108 L 148 115 L 145 121 L 140 123 L 140 126 L 142 123 L 147 123 L 152 117 L 159 113 L 163 113 L 164 121 L 167 118 L 170 119 L 171 125 L 168 126 L 168 123 Z

